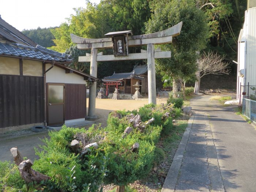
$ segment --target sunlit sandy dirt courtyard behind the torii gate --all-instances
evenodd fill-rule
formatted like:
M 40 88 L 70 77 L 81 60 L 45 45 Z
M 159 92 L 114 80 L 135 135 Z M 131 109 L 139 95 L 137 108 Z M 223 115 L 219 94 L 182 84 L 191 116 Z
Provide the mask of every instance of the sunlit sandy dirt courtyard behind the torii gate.
M 87 99 L 87 114 L 88 114 L 88 102 Z M 157 104 L 166 103 L 166 99 L 157 99 Z M 148 104 L 148 100 L 112 100 L 112 99 L 96 99 L 96 116 L 99 118 L 95 121 L 96 124 L 101 123 L 101 127 L 106 127 L 106 121 L 108 114 L 114 110 L 133 110 Z

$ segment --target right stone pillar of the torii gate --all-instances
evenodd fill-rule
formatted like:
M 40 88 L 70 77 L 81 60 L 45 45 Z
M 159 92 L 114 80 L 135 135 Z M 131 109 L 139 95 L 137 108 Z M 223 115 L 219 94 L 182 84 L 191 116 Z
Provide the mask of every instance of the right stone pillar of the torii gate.
M 155 86 L 155 57 L 154 44 L 147 44 L 147 68 L 148 68 L 148 103 L 157 104 L 157 91 Z

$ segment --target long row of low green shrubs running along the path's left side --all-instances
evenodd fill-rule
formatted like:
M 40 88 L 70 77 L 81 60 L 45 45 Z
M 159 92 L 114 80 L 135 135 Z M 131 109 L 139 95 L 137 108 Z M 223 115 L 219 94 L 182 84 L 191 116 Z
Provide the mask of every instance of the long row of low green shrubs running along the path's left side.
M 172 132 L 172 118 L 162 118 L 167 110 L 170 108 L 162 108 L 162 105 L 143 106 L 138 110 L 139 114 L 144 115 L 142 124 L 145 125 L 152 117 L 155 120 L 143 130 L 133 128 L 124 138 L 122 136 L 125 128 L 131 126 L 131 112 L 125 110 L 110 113 L 105 129 L 92 126 L 85 130 L 63 126 L 60 131 L 49 132 L 50 139 L 43 140 L 45 145 L 40 146 L 41 150 L 35 148 L 39 159 L 35 160 L 33 169 L 50 176 L 51 180 L 25 184 L 17 166 L 12 164 L 8 167 L 8 162 L 0 162 L 0 189 L 15 192 L 99 192 L 102 191 L 103 180 L 115 185 L 128 185 L 139 180 L 147 176 L 152 166 L 159 164 L 165 157 L 165 152 L 161 148 L 155 148 L 155 144 L 159 142 L 161 134 L 165 136 Z M 135 112 L 137 111 L 133 110 Z M 79 134 L 86 134 L 88 142 L 100 136 L 98 148 L 91 147 L 83 158 L 70 148 L 71 141 L 78 138 Z M 102 137 L 105 137 L 104 140 Z M 139 149 L 132 151 L 131 147 L 135 143 L 139 143 Z M 79 145 L 82 146 L 82 140 Z

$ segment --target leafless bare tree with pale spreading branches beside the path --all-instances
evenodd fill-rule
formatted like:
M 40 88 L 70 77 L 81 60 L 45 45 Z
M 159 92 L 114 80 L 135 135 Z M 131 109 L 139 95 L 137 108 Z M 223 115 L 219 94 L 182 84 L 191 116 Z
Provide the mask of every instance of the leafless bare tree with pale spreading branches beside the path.
M 196 72 L 197 81 L 195 83 L 194 93 L 199 93 L 200 80 L 204 75 L 208 74 L 229 74 L 230 69 L 227 68 L 229 63 L 224 61 L 225 56 L 218 53 L 203 53 L 198 62 L 198 71 Z

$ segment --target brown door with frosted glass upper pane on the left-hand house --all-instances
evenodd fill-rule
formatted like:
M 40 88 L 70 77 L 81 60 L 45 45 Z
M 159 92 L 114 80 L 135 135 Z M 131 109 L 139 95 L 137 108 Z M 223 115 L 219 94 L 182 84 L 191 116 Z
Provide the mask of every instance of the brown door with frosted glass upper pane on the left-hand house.
M 48 83 L 48 125 L 64 124 L 64 84 Z

